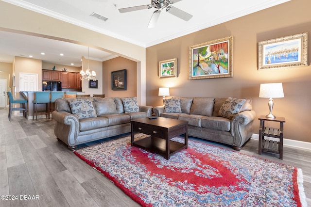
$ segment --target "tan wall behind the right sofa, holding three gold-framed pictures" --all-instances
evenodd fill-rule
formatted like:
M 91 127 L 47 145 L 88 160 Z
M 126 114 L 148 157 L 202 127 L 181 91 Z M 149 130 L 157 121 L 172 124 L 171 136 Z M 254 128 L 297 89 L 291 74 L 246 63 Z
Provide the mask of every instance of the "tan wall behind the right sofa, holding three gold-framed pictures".
M 170 87 L 171 96 L 250 97 L 257 116 L 254 133 L 259 133 L 259 115 L 269 113 L 268 99 L 259 98 L 260 83 L 282 82 L 284 98 L 274 99 L 273 113 L 286 119 L 284 137 L 311 142 L 311 52 L 308 66 L 257 70 L 258 42 L 309 32 L 310 0 L 287 3 L 244 16 L 224 24 L 176 38 L 146 49 L 147 105 L 162 104 L 159 87 Z M 189 47 L 210 40 L 233 36 L 233 78 L 188 80 Z M 177 78 L 158 78 L 158 62 L 178 59 Z M 270 122 L 270 126 L 271 122 Z

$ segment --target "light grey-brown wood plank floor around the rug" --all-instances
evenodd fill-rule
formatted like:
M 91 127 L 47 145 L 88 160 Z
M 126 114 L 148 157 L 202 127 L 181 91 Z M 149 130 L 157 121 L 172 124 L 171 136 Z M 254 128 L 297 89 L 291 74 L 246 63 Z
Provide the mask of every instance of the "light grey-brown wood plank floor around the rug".
M 12 115 L 9 121 L 7 116 L 8 110 L 0 109 L 0 195 L 14 195 L 18 199 L 0 200 L 0 207 L 139 206 L 57 141 L 52 119 L 33 121 Z M 100 142 L 89 145 L 96 143 Z M 241 153 L 301 168 L 308 206 L 311 206 L 311 151 L 285 146 L 280 160 L 268 153 L 259 156 L 258 141 L 250 140 Z M 25 200 L 29 196 L 34 199 Z

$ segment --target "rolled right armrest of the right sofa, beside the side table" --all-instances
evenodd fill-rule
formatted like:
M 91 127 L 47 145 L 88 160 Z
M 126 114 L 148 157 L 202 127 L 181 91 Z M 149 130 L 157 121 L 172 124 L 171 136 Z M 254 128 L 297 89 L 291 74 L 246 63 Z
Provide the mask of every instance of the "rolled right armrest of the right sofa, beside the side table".
M 231 120 L 231 135 L 234 137 L 233 146 L 241 147 L 253 134 L 253 121 L 256 112 L 253 110 L 242 111 Z

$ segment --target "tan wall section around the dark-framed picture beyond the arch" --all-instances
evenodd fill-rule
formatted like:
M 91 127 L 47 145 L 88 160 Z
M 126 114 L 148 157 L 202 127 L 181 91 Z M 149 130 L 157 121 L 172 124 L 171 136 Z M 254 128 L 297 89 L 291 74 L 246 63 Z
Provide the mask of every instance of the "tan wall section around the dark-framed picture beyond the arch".
M 126 69 L 126 91 L 111 90 L 111 72 Z M 137 91 L 137 64 L 126 58 L 117 57 L 103 62 L 103 93 L 105 97 L 130 97 L 136 96 Z

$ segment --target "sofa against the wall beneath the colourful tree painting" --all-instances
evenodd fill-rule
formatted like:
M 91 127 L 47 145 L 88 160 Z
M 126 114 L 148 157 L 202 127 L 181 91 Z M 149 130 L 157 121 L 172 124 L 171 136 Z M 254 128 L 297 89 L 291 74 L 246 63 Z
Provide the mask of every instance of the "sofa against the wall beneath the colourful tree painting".
M 253 134 L 252 123 L 256 113 L 252 110 L 251 99 L 237 99 L 244 102 L 237 104 L 236 111 L 233 112 L 230 112 L 233 108 L 230 108 L 232 101 L 228 101 L 229 98 L 174 97 L 174 99 L 180 99 L 181 110 L 178 106 L 170 108 L 170 99 L 166 99 L 165 107 L 154 108 L 155 114 L 188 121 L 189 136 L 225 143 L 235 150 L 241 150 L 242 145 Z M 233 105 L 234 103 L 233 101 Z M 165 108 L 169 110 L 165 112 Z

